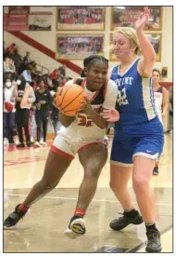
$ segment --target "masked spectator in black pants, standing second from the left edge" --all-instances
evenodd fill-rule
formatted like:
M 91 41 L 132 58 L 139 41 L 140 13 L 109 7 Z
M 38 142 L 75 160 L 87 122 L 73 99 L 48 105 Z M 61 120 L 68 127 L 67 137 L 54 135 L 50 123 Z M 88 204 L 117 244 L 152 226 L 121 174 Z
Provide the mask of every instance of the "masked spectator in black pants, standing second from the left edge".
M 22 75 L 17 77 L 17 85 L 14 87 L 14 97 L 16 100 L 16 124 L 19 134 L 19 144 L 17 147 L 24 147 L 22 128 L 24 128 L 27 146 L 31 146 L 29 132 L 30 109 L 35 101 L 33 88 L 26 83 Z

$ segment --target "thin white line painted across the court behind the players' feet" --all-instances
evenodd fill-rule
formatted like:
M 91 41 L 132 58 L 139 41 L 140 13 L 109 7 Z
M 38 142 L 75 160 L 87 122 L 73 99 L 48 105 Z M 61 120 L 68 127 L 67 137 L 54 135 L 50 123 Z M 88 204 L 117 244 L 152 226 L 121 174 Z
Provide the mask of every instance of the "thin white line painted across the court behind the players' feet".
M 26 197 L 27 195 L 18 195 L 18 194 L 4 194 L 4 195 L 10 195 L 10 196 L 24 196 Z M 44 196 L 44 198 L 52 198 L 52 199 L 65 199 L 65 200 L 78 200 L 78 198 L 69 198 L 69 197 L 58 197 L 58 196 Z M 110 203 L 118 203 L 119 201 L 115 201 L 115 200 L 104 200 L 104 199 L 93 199 L 93 201 L 95 202 L 110 202 Z M 132 202 L 132 204 L 137 204 L 137 202 Z M 168 207 L 172 207 L 171 204 L 155 204 L 156 206 L 168 206 Z

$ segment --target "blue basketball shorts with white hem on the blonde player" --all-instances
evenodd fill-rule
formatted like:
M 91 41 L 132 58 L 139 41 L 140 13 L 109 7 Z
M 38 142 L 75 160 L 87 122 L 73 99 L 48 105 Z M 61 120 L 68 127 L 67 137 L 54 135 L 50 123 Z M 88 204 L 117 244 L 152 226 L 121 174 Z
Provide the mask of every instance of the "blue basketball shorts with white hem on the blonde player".
M 163 126 L 158 118 L 137 126 L 115 129 L 110 163 L 118 166 L 132 166 L 132 158 L 144 155 L 157 159 L 164 145 Z

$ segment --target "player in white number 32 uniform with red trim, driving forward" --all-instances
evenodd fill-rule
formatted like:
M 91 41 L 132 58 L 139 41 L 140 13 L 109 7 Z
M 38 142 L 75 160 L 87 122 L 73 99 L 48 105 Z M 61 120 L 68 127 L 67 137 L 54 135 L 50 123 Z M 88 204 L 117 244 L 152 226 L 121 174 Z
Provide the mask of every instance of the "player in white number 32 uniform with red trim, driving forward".
M 34 202 L 57 186 L 78 153 L 84 176 L 76 209 L 65 235 L 76 238 L 85 234 L 83 216 L 94 197 L 99 175 L 107 162 L 107 125 L 108 122 L 118 121 L 119 113 L 112 110 L 107 121 L 100 115 L 104 109 L 115 107 L 118 94 L 116 84 L 107 80 L 107 59 L 94 55 L 86 58 L 83 63 L 85 77 L 70 80 L 65 86 L 73 83 L 82 86 L 88 100 L 82 102 L 82 111 L 75 113 L 75 116 L 59 113 L 62 127 L 47 156 L 44 176 L 32 187 L 24 202 L 6 218 L 5 229 L 13 228 Z

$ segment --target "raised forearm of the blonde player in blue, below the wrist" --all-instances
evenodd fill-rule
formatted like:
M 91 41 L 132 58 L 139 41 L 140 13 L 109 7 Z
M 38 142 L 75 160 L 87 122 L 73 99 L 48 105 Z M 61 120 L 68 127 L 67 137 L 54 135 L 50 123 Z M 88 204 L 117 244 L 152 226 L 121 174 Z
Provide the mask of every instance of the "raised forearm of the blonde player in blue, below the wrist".
M 144 57 L 144 60 L 147 62 L 155 62 L 156 61 L 156 52 L 154 50 L 154 47 L 152 47 L 150 41 L 145 36 L 145 33 L 143 30 L 136 30 L 139 44 L 141 47 L 142 55 Z

